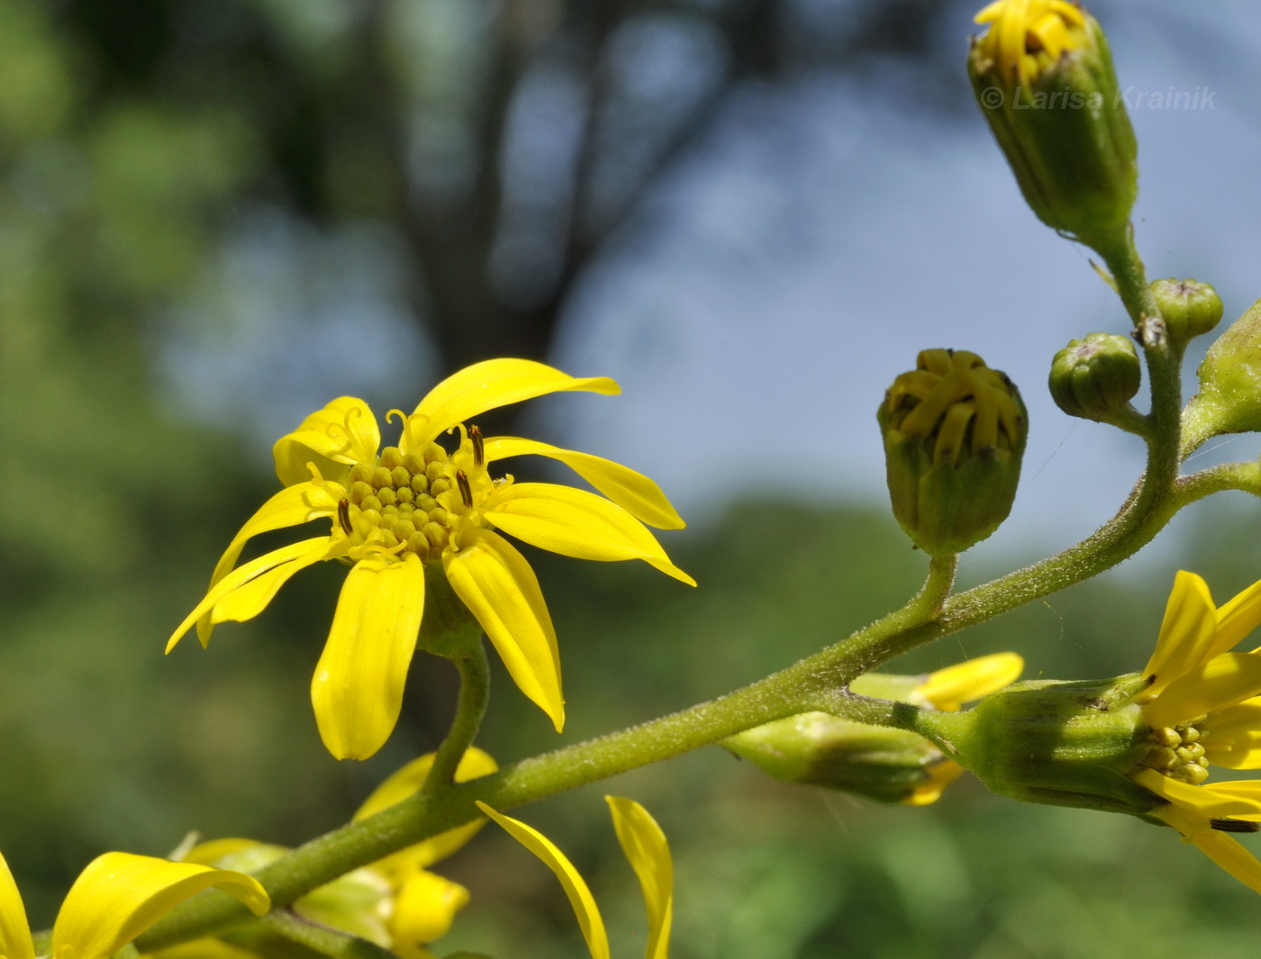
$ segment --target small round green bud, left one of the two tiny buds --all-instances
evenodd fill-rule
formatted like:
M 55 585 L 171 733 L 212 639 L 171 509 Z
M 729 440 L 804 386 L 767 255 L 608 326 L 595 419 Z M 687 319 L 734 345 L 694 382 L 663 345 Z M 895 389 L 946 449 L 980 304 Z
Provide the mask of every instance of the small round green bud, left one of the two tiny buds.
M 1050 363 L 1050 397 L 1069 416 L 1107 420 L 1139 392 L 1141 367 L 1129 336 L 1092 333 Z

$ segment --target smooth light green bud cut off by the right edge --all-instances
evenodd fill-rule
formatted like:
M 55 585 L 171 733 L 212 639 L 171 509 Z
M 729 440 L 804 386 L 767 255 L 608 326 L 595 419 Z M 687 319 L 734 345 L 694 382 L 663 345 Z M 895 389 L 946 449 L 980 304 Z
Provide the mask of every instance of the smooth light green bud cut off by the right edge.
M 1193 445 L 1209 436 L 1261 431 L 1261 300 L 1208 348 L 1199 392 L 1183 413 Z

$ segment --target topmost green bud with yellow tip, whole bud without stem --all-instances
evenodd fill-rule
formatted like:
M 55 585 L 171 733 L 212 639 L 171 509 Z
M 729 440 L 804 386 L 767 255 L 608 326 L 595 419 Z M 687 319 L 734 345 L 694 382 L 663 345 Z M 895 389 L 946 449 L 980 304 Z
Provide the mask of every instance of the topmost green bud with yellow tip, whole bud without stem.
M 999 0 L 976 16 L 967 72 L 981 112 L 1047 226 L 1115 242 L 1139 192 L 1137 146 L 1098 21 L 1063 0 Z

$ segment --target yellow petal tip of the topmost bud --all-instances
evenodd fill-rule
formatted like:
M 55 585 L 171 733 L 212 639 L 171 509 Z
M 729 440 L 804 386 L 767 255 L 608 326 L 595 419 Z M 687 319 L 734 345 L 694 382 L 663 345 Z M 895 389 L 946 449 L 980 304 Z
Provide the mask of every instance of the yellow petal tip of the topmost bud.
M 1000 64 L 1010 82 L 1028 86 L 1066 50 L 1087 43 L 1086 14 L 1066 0 L 995 0 L 976 15 L 990 29 L 980 52 Z

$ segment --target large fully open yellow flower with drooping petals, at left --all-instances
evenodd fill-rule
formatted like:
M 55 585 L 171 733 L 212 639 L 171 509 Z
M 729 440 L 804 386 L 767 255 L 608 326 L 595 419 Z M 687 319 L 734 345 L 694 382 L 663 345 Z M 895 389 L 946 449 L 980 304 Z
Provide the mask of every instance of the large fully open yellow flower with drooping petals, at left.
M 488 410 L 560 391 L 619 392 L 607 377 L 578 379 L 542 363 L 492 359 L 444 379 L 410 416 L 391 411 L 402 420 L 397 446 L 380 449 L 377 420 L 362 399 L 342 397 L 311 413 L 272 450 L 285 489 L 233 538 L 168 652 L 194 623 L 204 645 L 216 624 L 259 615 L 289 577 L 313 563 L 351 563 L 311 701 L 329 752 L 366 759 L 398 718 L 425 605 L 425 566 L 440 565 L 513 680 L 559 731 L 565 709 L 551 616 L 526 558 L 496 531 L 580 560 L 643 560 L 696 585 L 644 527 L 683 527 L 651 479 L 599 456 L 514 436 L 483 439 L 465 426 Z M 454 431 L 459 445 L 449 452 L 436 441 Z M 607 499 L 492 478 L 492 464 L 526 454 L 560 460 Z M 314 519 L 329 520 L 328 536 L 232 568 L 250 537 Z

